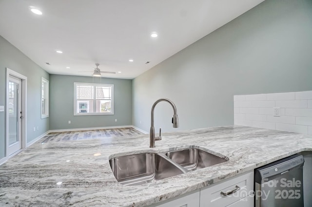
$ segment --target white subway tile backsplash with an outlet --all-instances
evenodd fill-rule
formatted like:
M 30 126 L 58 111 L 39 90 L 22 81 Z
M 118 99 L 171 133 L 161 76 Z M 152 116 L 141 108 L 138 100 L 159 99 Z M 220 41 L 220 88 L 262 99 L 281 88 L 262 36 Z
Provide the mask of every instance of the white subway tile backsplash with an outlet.
M 279 107 L 279 116 L 273 108 Z M 312 91 L 234 96 L 234 124 L 312 134 Z

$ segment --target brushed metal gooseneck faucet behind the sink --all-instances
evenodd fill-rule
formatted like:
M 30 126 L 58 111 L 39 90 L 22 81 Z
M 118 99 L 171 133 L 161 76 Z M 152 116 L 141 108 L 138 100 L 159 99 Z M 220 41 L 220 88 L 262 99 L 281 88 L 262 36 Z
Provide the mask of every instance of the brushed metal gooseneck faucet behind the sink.
M 159 129 L 159 136 L 155 137 L 155 128 L 154 128 L 154 109 L 157 103 L 161 101 L 166 101 L 172 106 L 172 108 L 174 109 L 174 117 L 172 117 L 172 124 L 174 128 L 179 127 L 179 119 L 177 117 L 176 105 L 174 104 L 174 102 L 172 102 L 168 98 L 160 98 L 156 100 L 156 102 L 152 106 L 152 111 L 151 111 L 150 148 L 155 148 L 155 141 L 161 140 L 161 129 Z

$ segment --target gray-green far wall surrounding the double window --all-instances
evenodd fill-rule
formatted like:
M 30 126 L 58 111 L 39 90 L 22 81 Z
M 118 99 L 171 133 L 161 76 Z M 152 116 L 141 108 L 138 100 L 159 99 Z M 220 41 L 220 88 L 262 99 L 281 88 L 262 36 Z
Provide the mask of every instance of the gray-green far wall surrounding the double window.
M 131 125 L 132 80 L 101 78 L 114 84 L 114 115 L 74 116 L 74 82 L 99 83 L 100 78 L 50 75 L 50 130 Z M 115 122 L 117 119 L 117 122 Z M 68 124 L 68 121 L 71 124 Z

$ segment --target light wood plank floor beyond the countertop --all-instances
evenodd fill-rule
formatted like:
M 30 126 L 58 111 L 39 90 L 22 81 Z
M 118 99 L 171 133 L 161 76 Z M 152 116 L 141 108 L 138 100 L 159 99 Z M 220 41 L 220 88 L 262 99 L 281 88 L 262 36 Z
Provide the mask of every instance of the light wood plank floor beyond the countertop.
M 41 143 L 50 141 L 69 141 L 69 140 L 83 140 L 83 139 L 98 139 L 98 138 L 114 138 L 125 137 L 137 134 L 143 134 L 136 129 L 117 128 L 117 129 L 101 129 L 101 130 L 85 130 L 85 131 L 69 131 L 69 132 L 50 132 L 43 137 Z

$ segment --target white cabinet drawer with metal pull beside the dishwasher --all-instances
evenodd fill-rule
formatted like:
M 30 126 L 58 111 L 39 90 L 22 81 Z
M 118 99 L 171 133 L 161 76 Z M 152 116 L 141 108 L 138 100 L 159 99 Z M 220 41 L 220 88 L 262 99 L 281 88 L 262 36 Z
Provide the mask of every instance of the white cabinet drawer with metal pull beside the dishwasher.
M 225 207 L 253 193 L 254 171 L 200 189 L 200 207 Z M 222 195 L 234 191 L 233 194 Z

